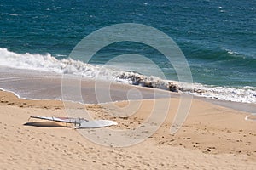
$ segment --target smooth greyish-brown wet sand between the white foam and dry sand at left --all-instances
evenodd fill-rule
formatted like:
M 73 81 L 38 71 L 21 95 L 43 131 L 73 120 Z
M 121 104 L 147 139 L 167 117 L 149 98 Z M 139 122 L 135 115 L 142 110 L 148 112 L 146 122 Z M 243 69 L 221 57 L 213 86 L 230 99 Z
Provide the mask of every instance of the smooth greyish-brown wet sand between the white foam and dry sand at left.
M 166 90 L 135 87 L 124 83 L 69 76 L 45 71 L 29 71 L 0 66 L 0 88 L 23 99 L 63 99 L 84 104 L 127 99 L 170 98 Z M 134 89 L 139 90 L 133 91 Z M 128 95 L 127 95 L 128 94 Z

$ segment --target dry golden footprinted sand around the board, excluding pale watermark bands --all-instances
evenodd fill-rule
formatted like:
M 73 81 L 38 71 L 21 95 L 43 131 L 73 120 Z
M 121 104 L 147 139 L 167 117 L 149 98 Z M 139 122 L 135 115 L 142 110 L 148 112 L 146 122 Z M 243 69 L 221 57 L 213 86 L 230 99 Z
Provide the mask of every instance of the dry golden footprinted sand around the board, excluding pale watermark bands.
M 193 99 L 187 121 L 169 133 L 178 98 L 166 121 L 143 143 L 125 148 L 90 142 L 77 130 L 55 126 L 24 126 L 29 116 L 67 116 L 63 103 L 55 100 L 17 99 L 0 92 L 1 169 L 255 169 L 256 122 L 248 114 Z M 168 99 L 159 99 L 167 102 Z M 137 101 L 135 101 L 137 102 Z M 127 102 L 115 105 L 124 107 Z M 110 104 L 86 105 L 96 118 L 119 122 L 115 129 L 131 129 L 142 123 L 154 100 L 143 100 L 128 118 L 111 116 Z M 30 120 L 33 122 L 33 120 Z M 50 127 L 52 126 L 52 127 Z

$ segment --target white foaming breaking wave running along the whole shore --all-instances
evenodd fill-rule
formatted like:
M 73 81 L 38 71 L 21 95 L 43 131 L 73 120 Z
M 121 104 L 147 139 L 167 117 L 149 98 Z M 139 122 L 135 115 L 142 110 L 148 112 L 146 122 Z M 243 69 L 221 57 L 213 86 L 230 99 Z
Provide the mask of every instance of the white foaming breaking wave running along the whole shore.
M 99 65 L 90 65 L 73 59 L 55 59 L 50 54 L 16 54 L 6 48 L 0 48 L 0 65 L 19 69 L 52 71 L 60 74 L 73 74 L 89 78 L 99 78 L 116 82 L 125 82 L 143 87 L 160 88 L 178 93 L 212 99 L 223 99 L 244 103 L 256 103 L 256 88 L 230 88 L 188 84 L 159 77 L 145 76 L 136 72 L 116 71 Z

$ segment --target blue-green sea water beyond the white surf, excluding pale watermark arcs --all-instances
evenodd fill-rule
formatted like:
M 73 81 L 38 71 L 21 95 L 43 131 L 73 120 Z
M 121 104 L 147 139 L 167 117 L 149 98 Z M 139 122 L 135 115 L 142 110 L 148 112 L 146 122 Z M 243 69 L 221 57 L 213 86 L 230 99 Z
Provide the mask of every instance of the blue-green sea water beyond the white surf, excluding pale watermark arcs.
M 119 23 L 152 26 L 172 37 L 194 82 L 256 89 L 255 0 L 0 1 L 0 48 L 67 59 L 91 32 Z M 177 80 L 159 52 L 139 43 L 112 44 L 91 63 L 101 65 L 125 53 L 148 55 L 167 79 Z

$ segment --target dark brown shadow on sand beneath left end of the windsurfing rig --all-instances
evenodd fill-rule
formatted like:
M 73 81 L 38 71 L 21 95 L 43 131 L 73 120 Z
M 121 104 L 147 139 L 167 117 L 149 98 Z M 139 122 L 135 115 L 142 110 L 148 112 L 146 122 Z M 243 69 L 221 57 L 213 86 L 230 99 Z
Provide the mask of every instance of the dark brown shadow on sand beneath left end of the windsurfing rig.
M 24 126 L 32 127 L 73 127 L 68 123 L 57 123 L 57 122 L 26 122 Z

